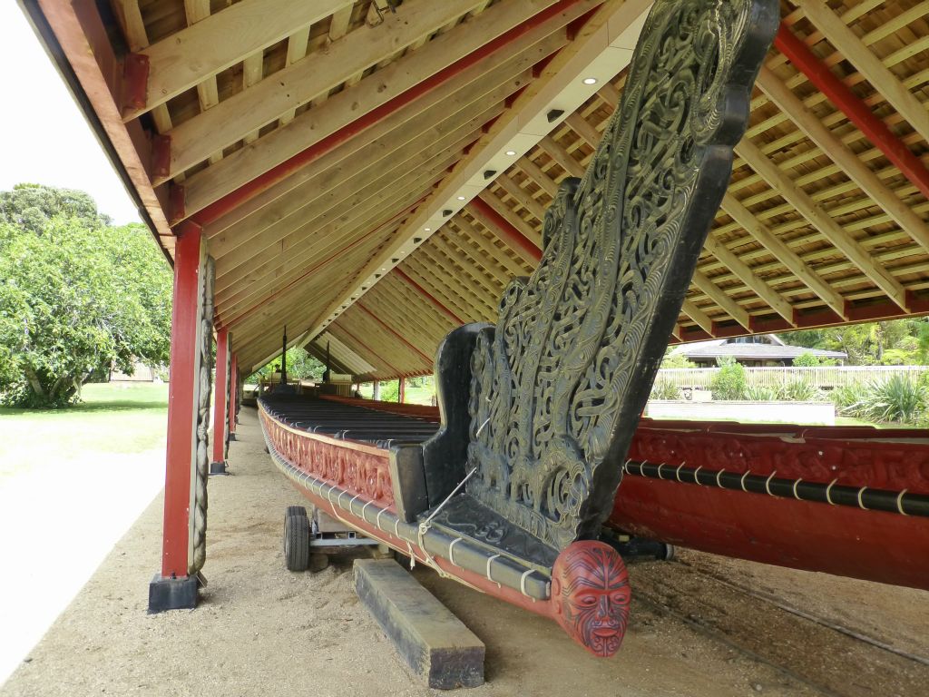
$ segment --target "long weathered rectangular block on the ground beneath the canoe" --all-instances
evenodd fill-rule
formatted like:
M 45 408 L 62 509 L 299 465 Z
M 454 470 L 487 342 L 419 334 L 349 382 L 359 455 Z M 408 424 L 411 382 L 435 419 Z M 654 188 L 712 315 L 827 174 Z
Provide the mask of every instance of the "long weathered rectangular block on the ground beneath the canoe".
M 484 684 L 484 643 L 396 561 L 355 561 L 355 592 L 428 687 Z

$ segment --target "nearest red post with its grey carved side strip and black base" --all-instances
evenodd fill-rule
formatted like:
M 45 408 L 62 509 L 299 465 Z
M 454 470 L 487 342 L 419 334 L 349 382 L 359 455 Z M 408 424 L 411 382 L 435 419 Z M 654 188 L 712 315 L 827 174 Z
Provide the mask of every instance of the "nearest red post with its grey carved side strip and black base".
M 162 569 L 149 586 L 149 612 L 197 604 L 205 559 L 213 268 L 200 226 L 184 224 L 175 249 Z

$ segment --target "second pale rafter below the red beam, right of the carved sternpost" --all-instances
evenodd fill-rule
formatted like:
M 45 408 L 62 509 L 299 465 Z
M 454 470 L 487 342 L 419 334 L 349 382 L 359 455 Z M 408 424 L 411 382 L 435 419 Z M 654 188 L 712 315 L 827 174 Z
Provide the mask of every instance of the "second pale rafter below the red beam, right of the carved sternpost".
M 833 246 L 842 250 L 872 283 L 881 288 L 902 309 L 908 309 L 907 293 L 903 286 L 855 240 L 849 238 L 822 206 L 816 204 L 809 194 L 796 186 L 791 178 L 765 157 L 758 150 L 758 146 L 751 140 L 743 139 L 736 146 L 736 151 L 739 157 L 765 178 L 785 201 L 792 204 L 797 213 L 805 217 Z

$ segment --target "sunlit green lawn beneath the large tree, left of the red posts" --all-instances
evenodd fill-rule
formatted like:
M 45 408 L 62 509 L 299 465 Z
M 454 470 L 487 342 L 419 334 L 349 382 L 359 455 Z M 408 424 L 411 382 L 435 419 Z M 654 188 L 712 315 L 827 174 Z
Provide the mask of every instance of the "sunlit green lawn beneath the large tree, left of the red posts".
M 82 397 L 66 409 L 0 408 L 0 476 L 37 461 L 164 447 L 167 385 L 85 385 Z

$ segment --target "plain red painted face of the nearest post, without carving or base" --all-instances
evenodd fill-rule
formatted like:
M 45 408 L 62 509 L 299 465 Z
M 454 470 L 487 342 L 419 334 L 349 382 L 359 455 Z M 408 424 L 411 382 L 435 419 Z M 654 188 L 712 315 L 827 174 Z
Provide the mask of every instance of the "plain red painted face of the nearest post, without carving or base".
M 190 470 L 196 446 L 197 329 L 200 323 L 200 226 L 181 226 L 175 247 L 174 306 L 171 314 L 171 369 L 164 472 L 162 576 L 187 576 L 190 534 Z

